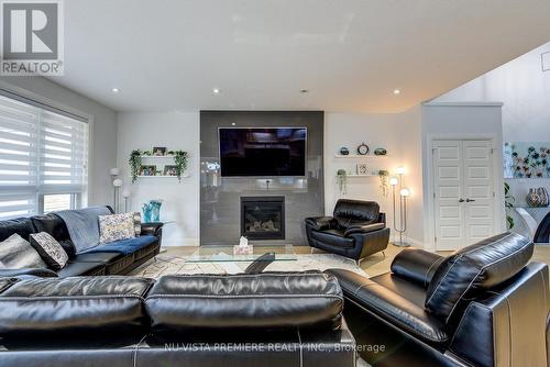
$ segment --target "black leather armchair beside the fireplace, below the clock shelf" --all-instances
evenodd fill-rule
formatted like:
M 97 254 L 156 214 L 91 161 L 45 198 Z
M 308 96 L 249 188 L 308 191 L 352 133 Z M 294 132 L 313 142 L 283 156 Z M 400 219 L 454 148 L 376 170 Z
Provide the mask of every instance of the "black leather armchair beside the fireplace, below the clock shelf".
M 333 216 L 306 219 L 309 246 L 354 260 L 386 249 L 386 215 L 373 201 L 338 200 Z

